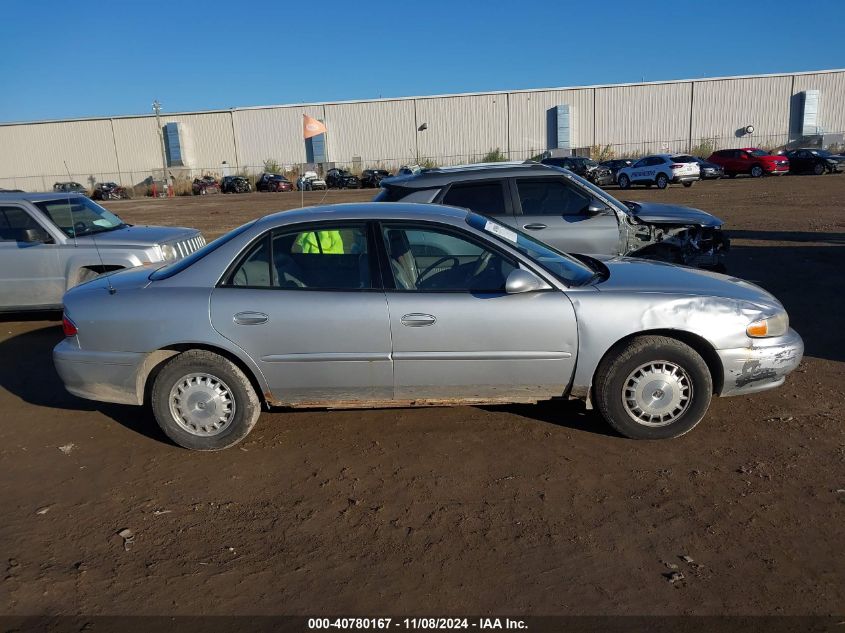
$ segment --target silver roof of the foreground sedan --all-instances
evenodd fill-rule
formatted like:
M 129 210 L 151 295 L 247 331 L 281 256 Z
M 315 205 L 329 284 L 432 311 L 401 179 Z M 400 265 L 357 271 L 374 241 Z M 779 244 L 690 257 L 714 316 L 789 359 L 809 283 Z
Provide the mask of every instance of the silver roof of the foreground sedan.
M 442 204 L 422 204 L 414 202 L 349 202 L 346 204 L 326 204 L 317 207 L 305 207 L 291 211 L 278 211 L 265 215 L 258 220 L 261 225 L 275 225 L 279 220 L 284 224 L 319 220 L 429 220 L 450 223 L 466 220 L 466 209 L 449 207 Z

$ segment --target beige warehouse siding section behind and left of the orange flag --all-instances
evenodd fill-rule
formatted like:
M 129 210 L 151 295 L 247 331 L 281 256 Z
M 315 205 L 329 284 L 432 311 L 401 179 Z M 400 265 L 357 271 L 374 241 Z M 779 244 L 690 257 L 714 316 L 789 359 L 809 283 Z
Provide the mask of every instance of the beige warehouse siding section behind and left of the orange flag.
M 268 158 L 282 164 L 304 163 L 303 114 L 315 119 L 326 118 L 323 106 L 235 110 L 235 135 L 240 164 L 261 165 Z

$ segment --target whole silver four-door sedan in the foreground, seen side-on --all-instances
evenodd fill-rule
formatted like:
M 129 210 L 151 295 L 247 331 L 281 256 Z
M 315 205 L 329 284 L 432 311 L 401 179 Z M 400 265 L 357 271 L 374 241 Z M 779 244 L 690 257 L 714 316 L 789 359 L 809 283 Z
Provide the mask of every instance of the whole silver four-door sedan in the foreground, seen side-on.
M 64 305 L 67 389 L 149 402 L 197 450 L 242 440 L 262 406 L 581 399 L 624 436 L 671 438 L 713 394 L 776 387 L 803 354 L 783 306 L 748 282 L 567 255 L 430 204 L 269 215 Z

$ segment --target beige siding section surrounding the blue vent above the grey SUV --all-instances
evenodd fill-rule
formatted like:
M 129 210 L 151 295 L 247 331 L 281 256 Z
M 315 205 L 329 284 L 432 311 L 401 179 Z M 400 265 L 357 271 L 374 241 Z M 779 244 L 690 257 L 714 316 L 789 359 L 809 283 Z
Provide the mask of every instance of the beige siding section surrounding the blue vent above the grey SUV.
M 515 158 L 529 158 L 551 147 L 549 111 L 569 105 L 570 141 L 573 147 L 593 145 L 593 89 L 547 90 L 511 93 L 510 146 Z

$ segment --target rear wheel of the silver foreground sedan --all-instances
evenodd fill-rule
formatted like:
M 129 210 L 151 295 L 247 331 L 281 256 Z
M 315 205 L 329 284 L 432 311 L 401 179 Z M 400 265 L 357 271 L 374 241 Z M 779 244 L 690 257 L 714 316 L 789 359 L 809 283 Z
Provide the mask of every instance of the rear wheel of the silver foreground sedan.
M 205 350 L 189 350 L 170 360 L 155 379 L 151 401 L 165 435 L 195 451 L 234 446 L 261 414 L 258 395 L 240 368 Z

